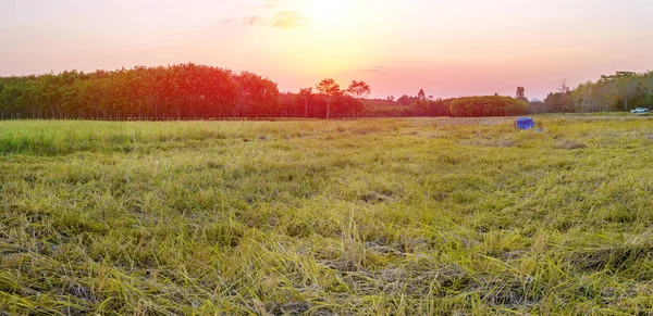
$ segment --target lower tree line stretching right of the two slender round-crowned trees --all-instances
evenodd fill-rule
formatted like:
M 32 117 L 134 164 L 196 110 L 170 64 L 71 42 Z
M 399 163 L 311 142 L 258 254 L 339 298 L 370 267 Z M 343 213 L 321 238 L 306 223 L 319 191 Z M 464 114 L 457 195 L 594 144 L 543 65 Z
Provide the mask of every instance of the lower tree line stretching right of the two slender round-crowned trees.
M 517 87 L 515 97 L 483 96 L 453 99 L 426 97 L 423 90 L 418 96 L 404 94 L 396 99 L 390 96 L 386 106 L 375 111 L 364 111 L 369 116 L 503 116 L 527 113 L 591 113 L 624 112 L 636 108 L 653 110 L 653 72 L 616 72 L 603 75 L 596 81 L 587 81 L 576 89 L 563 80 L 557 91 L 544 100 L 526 97 L 525 87 Z M 389 103 L 402 106 L 399 110 Z

